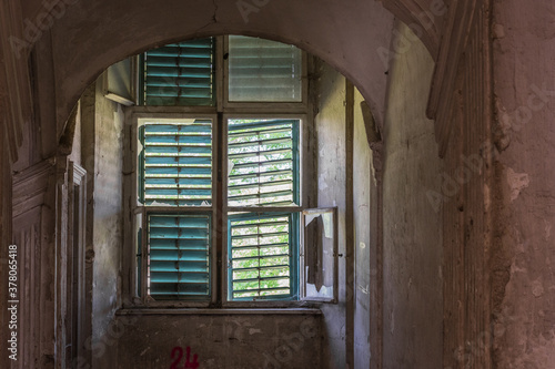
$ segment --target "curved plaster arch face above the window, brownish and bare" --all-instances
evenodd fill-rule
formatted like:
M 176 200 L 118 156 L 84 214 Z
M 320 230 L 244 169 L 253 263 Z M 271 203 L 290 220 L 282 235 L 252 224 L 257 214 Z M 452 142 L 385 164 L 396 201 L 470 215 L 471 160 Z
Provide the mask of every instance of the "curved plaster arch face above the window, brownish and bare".
M 58 124 L 69 116 L 85 86 L 112 63 L 175 40 L 226 33 L 292 43 L 320 57 L 359 88 L 381 124 L 389 61 L 396 52 L 391 47 L 394 14 L 420 22 L 415 12 L 423 9 L 415 0 L 391 1 L 389 10 L 367 0 L 350 6 L 332 0 L 61 1 L 67 9 L 48 40 Z M 435 28 L 421 28 L 434 55 L 436 40 L 428 34 Z

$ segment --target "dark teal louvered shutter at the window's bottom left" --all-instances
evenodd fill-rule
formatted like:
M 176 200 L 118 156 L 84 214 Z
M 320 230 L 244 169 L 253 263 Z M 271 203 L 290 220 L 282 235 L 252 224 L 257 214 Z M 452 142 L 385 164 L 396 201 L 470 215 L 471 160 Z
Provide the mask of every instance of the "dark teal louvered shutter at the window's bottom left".
M 148 294 L 155 300 L 210 296 L 209 215 L 150 215 Z

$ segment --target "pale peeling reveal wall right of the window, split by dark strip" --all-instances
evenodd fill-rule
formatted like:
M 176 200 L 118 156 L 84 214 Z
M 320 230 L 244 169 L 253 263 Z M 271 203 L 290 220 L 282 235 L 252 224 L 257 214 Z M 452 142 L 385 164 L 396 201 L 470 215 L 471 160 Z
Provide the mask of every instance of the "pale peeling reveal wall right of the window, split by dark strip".
M 346 155 L 346 84 L 345 78 L 327 64 L 319 72 L 319 113 L 315 116 L 317 130 L 317 198 L 320 207 L 337 206 L 339 214 L 339 304 L 321 305 L 323 311 L 323 368 L 344 368 L 354 360 L 354 368 L 366 368 L 370 363 L 370 317 L 371 317 L 371 192 L 372 153 L 369 146 L 362 111 L 363 96 L 355 89 L 354 94 L 354 142 L 353 163 Z M 346 265 L 346 166 L 353 165 L 354 245 L 352 266 Z M 375 193 L 374 193 L 375 195 Z M 347 268 L 353 268 L 353 280 L 347 280 Z M 347 300 L 353 299 L 353 311 L 347 314 Z M 354 324 L 349 330 L 347 319 Z M 351 346 L 351 347 L 350 347 Z M 349 352 L 352 349 L 353 358 Z

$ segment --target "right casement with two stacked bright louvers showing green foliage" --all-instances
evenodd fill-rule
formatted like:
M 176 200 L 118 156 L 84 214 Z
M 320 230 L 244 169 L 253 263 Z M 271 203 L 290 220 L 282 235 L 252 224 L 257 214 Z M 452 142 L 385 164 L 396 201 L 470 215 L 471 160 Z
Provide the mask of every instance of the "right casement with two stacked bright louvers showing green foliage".
M 299 119 L 228 120 L 228 298 L 299 297 Z M 270 212 L 271 207 L 290 212 Z M 252 209 L 252 212 L 251 212 Z

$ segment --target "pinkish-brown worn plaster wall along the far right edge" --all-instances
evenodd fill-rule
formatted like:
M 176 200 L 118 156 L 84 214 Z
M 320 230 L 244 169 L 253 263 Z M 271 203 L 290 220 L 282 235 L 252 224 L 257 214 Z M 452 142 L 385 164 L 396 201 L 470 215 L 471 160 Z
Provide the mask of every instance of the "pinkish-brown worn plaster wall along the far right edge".
M 494 362 L 555 368 L 555 4 L 493 1 Z

